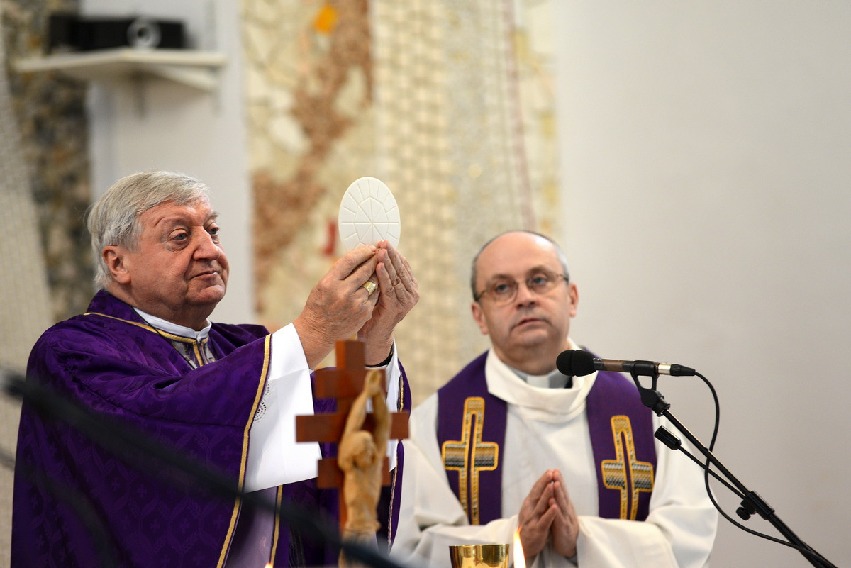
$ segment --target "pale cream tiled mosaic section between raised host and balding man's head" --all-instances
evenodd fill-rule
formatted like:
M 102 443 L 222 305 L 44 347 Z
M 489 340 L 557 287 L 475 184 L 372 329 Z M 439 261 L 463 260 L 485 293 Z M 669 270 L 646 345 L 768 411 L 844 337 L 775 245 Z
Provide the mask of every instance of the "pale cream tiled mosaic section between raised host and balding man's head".
M 421 371 L 421 400 L 487 348 L 470 315 L 477 249 L 502 230 L 551 226 L 555 139 L 540 105 L 554 103 L 533 72 L 545 61 L 518 49 L 534 36 L 520 22 L 546 3 L 373 5 L 380 155 L 391 187 L 405 188 L 400 210 L 415 212 L 403 233 L 413 229 L 406 246 L 421 299 L 399 335 L 413 346 L 406 361 Z

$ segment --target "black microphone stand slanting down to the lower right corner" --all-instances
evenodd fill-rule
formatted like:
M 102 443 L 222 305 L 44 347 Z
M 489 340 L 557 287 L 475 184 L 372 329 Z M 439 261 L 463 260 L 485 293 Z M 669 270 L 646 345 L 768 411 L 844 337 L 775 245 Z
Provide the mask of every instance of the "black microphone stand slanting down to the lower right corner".
M 656 389 L 656 383 L 659 379 L 659 373 L 656 372 L 656 365 L 653 361 L 634 361 L 633 367 L 631 370 L 632 380 L 636 383 L 636 387 L 638 388 L 638 392 L 641 394 L 641 401 L 644 406 L 647 406 L 650 410 L 656 413 L 656 416 L 664 416 L 667 418 L 671 424 L 674 425 L 677 430 L 679 430 L 686 439 L 692 443 L 692 445 L 697 448 L 697 450 L 702 453 L 707 460 L 707 463 L 704 465 L 700 463 L 700 466 L 708 471 L 709 473 L 713 473 L 709 467 L 711 463 L 714 465 L 718 471 L 726 477 L 730 483 L 732 483 L 736 489 L 740 491 L 740 496 L 744 496 L 745 498 L 742 500 L 740 508 L 736 509 L 736 514 L 740 516 L 742 520 L 749 520 L 751 515 L 759 514 L 762 519 L 767 520 L 771 525 L 774 525 L 780 534 L 783 535 L 788 542 L 790 542 L 795 548 L 797 548 L 798 552 L 800 552 L 804 558 L 808 560 L 808 562 L 816 568 L 837 568 L 836 565 L 831 564 L 831 562 L 825 559 L 821 554 L 814 551 L 813 548 L 803 542 L 800 537 L 798 537 L 791 529 L 785 525 L 785 523 L 780 520 L 780 518 L 774 514 L 774 508 L 771 507 L 756 491 L 751 491 L 740 480 L 736 479 L 735 475 L 730 472 L 729 469 L 724 467 L 720 460 L 715 457 L 712 452 L 709 451 L 706 446 L 704 446 L 700 440 L 698 440 L 688 429 L 683 426 L 677 417 L 675 417 L 669 409 L 671 408 L 671 404 L 665 400 L 665 397 Z M 653 384 L 650 389 L 643 387 L 642 384 L 638 381 L 639 376 L 650 377 L 653 379 Z M 664 428 L 660 427 L 660 429 L 664 430 Z M 669 433 L 670 434 L 670 433 Z M 657 431 L 657 437 L 661 437 L 659 432 Z M 665 440 L 662 440 L 665 442 Z M 677 440 L 678 441 L 678 440 Z M 671 449 L 677 449 L 675 446 L 668 444 L 666 445 L 671 447 Z M 682 448 L 681 448 L 682 449 Z M 684 451 L 683 451 L 684 452 Z M 717 476 L 716 476 L 717 477 Z M 728 486 L 728 484 L 724 484 Z M 728 486 L 729 487 L 729 486 Z

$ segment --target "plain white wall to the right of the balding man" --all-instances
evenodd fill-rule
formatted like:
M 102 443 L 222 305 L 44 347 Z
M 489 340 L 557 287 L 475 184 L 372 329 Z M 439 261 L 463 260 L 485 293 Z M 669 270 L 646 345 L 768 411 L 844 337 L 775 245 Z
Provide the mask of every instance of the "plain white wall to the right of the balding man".
M 574 337 L 603 357 L 703 372 L 722 405 L 717 457 L 848 565 L 851 3 L 558 10 Z M 708 442 L 699 379 L 660 390 Z M 716 494 L 734 515 L 739 500 Z M 722 520 L 713 565 L 808 562 Z

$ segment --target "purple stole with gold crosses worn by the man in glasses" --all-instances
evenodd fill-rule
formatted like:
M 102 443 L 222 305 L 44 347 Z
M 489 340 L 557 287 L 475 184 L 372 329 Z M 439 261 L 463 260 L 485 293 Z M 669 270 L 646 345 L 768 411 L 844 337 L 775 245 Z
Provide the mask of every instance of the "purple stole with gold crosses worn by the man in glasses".
M 505 455 L 500 454 L 508 409 L 505 400 L 488 392 L 487 358 L 486 351 L 437 391 L 443 468 L 471 525 L 502 518 Z M 635 384 L 616 372 L 597 372 L 585 405 L 599 515 L 645 520 L 656 465 L 652 412 L 643 406 Z

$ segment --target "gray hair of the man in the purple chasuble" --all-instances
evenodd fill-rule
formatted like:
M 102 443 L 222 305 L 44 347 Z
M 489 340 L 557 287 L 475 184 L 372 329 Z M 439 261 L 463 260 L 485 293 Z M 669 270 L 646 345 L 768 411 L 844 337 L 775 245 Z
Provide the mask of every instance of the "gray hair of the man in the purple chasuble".
M 133 173 L 115 182 L 89 207 L 87 223 L 92 236 L 94 285 L 106 288 L 112 276 L 103 258 L 105 247 L 135 250 L 142 227 L 139 218 L 164 202 L 178 205 L 207 199 L 207 185 L 182 173 L 150 170 Z

